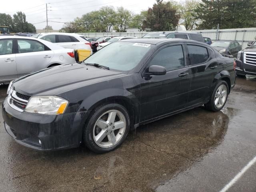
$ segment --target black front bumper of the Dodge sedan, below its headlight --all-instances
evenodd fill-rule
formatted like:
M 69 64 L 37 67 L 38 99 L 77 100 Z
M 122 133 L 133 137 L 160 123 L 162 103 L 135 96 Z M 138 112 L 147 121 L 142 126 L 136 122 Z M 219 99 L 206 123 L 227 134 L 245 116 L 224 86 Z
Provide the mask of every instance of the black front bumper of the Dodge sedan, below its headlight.
M 33 114 L 14 110 L 7 99 L 2 104 L 4 127 L 8 134 L 19 144 L 36 150 L 78 147 L 82 141 L 82 117 L 85 113 Z

